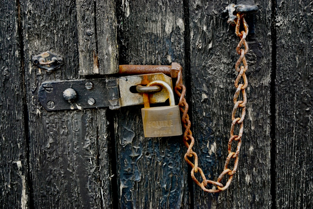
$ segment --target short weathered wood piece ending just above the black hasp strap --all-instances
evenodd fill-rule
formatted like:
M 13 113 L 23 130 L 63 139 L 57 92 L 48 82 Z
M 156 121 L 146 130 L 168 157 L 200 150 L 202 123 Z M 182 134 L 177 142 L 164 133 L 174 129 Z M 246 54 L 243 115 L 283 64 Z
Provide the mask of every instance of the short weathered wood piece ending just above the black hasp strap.
M 118 72 L 115 1 L 77 1 L 80 75 Z

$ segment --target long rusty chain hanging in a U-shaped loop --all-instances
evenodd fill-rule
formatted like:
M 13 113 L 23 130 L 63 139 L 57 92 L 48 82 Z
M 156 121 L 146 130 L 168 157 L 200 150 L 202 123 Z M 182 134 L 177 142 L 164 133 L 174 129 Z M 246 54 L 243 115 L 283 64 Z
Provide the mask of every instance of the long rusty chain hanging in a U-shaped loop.
M 244 30 L 239 32 L 241 22 L 243 24 Z M 244 130 L 244 116 L 245 116 L 246 103 L 247 103 L 247 95 L 246 95 L 245 89 L 248 86 L 248 80 L 247 80 L 247 76 L 245 74 L 245 72 L 248 70 L 248 64 L 247 64 L 247 60 L 246 60 L 244 55 L 248 52 L 249 47 L 248 47 L 248 43 L 246 41 L 246 36 L 248 34 L 248 25 L 244 19 L 243 14 L 237 14 L 235 33 L 240 38 L 239 44 L 236 48 L 236 51 L 240 55 L 240 57 L 239 57 L 238 61 L 236 62 L 236 65 L 235 65 L 235 69 L 237 72 L 239 72 L 239 74 L 238 74 L 238 76 L 234 82 L 234 86 L 236 87 L 236 91 L 235 91 L 235 94 L 233 96 L 234 106 L 233 106 L 233 111 L 232 111 L 232 115 L 231 115 L 232 124 L 231 124 L 231 128 L 230 128 L 230 138 L 228 140 L 228 156 L 227 156 L 225 164 L 224 164 L 224 170 L 218 176 L 217 181 L 212 181 L 212 180 L 206 179 L 202 169 L 200 167 L 198 167 L 198 155 L 192 150 L 192 147 L 194 145 L 195 140 L 192 137 L 192 132 L 190 130 L 191 122 L 190 122 L 189 116 L 187 114 L 188 104 L 187 104 L 186 99 L 185 99 L 186 87 L 182 83 L 182 72 L 181 71 L 179 71 L 179 73 L 177 75 L 177 82 L 176 82 L 176 86 L 175 86 L 175 92 L 178 95 L 178 97 L 180 97 L 178 105 L 179 105 L 180 111 L 182 112 L 182 124 L 185 128 L 185 132 L 183 135 L 183 143 L 188 148 L 184 158 L 185 158 L 186 162 L 192 167 L 191 177 L 194 180 L 194 182 L 197 185 L 199 185 L 203 189 L 203 191 L 210 192 L 210 193 L 215 193 L 215 192 L 220 192 L 220 191 L 226 190 L 228 188 L 228 186 L 230 185 L 230 183 L 233 179 L 233 175 L 235 174 L 237 167 L 238 167 L 239 151 L 240 151 L 240 146 L 241 146 L 241 137 L 242 137 L 243 130 Z M 242 47 L 244 47 L 244 48 L 242 48 Z M 243 65 L 240 65 L 241 63 Z M 244 81 L 244 83 L 238 84 L 241 79 Z M 243 100 L 237 101 L 240 92 L 242 93 L 242 99 Z M 237 109 L 239 109 L 239 108 L 242 108 L 241 117 L 236 118 L 235 115 L 236 115 Z M 235 129 L 236 125 L 239 126 L 238 135 L 234 135 L 234 129 Z M 232 152 L 232 150 L 231 150 L 233 140 L 238 142 L 236 152 Z M 194 158 L 194 163 L 192 163 L 192 161 L 190 159 L 192 157 Z M 234 166 L 233 166 L 233 170 L 230 170 L 228 168 L 228 165 L 232 159 L 234 159 Z M 201 183 L 195 177 L 195 173 L 198 173 L 198 172 L 202 177 Z M 228 180 L 224 186 L 221 183 L 221 180 L 223 179 L 223 177 L 226 174 L 228 175 Z M 215 185 L 217 187 L 217 189 L 207 189 L 206 186 L 208 184 Z

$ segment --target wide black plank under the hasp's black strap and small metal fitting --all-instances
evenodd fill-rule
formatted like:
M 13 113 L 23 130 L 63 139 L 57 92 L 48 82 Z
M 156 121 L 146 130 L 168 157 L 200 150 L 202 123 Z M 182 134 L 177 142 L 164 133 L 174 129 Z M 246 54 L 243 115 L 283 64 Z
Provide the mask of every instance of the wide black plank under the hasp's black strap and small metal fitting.
M 21 1 L 29 112 L 32 208 L 111 208 L 106 110 L 47 112 L 38 103 L 43 81 L 79 78 L 76 5 Z M 48 73 L 32 65 L 44 51 L 64 56 Z

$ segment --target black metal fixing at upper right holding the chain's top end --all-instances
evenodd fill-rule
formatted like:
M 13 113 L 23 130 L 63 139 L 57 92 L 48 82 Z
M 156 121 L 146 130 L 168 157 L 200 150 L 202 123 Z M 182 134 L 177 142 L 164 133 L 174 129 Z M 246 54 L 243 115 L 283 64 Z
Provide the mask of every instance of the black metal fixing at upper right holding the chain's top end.
M 249 15 L 251 13 L 258 11 L 257 5 L 243 5 L 243 4 L 228 4 L 228 6 L 225 8 L 223 13 L 228 13 L 228 23 L 232 26 L 236 25 L 235 19 L 237 18 L 236 14 L 246 14 Z M 247 24 L 249 26 L 249 34 L 254 34 L 254 17 L 252 18 L 246 18 Z

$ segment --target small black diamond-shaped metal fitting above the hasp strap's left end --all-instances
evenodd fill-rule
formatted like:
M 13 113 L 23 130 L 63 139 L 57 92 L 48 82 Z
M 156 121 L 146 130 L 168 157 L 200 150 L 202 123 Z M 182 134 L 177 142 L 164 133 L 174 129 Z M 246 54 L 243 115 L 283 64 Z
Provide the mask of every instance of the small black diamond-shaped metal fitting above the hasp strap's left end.
M 54 54 L 50 51 L 33 56 L 32 60 L 35 66 L 43 68 L 47 70 L 47 72 L 52 72 L 64 64 L 62 56 Z

